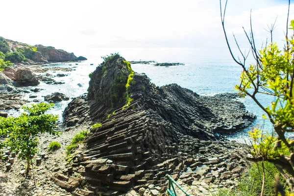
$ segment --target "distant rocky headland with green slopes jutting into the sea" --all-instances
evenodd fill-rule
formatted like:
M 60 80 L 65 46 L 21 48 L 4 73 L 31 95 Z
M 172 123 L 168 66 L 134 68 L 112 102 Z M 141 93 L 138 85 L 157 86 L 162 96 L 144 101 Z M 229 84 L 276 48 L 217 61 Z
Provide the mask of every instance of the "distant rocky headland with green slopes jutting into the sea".
M 42 45 L 30 46 L 28 44 L 15 42 L 8 39 L 6 39 L 6 41 L 9 44 L 10 53 L 18 52 L 24 55 L 26 59 L 29 59 L 26 61 L 23 60 L 23 62 L 21 62 L 23 64 L 87 60 L 85 57 L 76 57 L 73 53 L 69 53 L 62 49 L 55 49 L 54 47 L 45 47 Z

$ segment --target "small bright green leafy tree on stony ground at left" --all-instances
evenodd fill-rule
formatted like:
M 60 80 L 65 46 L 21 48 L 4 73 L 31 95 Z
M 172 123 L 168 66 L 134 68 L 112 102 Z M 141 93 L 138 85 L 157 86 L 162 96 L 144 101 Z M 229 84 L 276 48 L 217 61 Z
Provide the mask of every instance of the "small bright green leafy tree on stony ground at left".
M 11 150 L 20 152 L 19 157 L 27 160 L 27 172 L 29 172 L 30 159 L 38 151 L 37 135 L 49 133 L 59 135 L 56 130 L 58 115 L 45 114 L 53 103 L 38 103 L 31 106 L 23 106 L 24 113 L 19 117 L 0 117 L 0 135 L 7 136 L 4 141 Z

